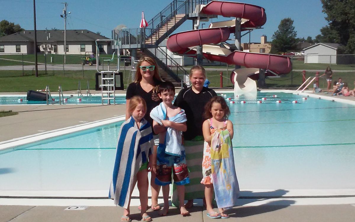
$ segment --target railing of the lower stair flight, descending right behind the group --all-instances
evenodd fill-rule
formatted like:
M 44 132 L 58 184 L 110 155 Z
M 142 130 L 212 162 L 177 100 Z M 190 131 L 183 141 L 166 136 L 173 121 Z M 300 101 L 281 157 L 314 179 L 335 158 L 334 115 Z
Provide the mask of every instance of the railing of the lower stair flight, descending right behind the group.
M 177 63 L 173 58 L 171 58 L 166 52 L 158 48 L 147 49 L 152 57 L 157 61 L 158 65 L 168 73 L 175 81 L 181 83 L 181 88 L 186 88 L 189 82 L 189 73 Z

